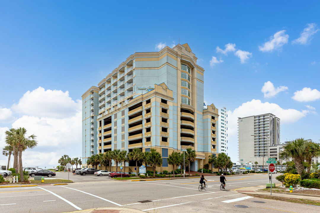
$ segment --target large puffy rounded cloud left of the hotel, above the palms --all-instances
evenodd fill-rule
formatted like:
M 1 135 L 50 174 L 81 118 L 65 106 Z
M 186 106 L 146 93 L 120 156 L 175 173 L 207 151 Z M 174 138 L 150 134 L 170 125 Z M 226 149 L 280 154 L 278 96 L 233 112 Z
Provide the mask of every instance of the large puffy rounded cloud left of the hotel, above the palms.
M 77 102 L 80 103 L 80 100 Z M 26 92 L 18 104 L 12 105 L 12 109 L 24 115 L 66 118 L 75 115 L 78 103 L 69 97 L 68 91 L 44 90 L 38 87 L 31 92 Z

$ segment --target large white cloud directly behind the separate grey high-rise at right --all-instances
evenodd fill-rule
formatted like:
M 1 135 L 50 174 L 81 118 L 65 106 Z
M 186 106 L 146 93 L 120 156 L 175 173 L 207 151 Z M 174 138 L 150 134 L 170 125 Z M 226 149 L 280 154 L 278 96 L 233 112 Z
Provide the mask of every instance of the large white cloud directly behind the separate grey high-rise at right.
M 253 99 L 243 103 L 235 110 L 228 111 L 228 141 L 229 141 L 229 156 L 233 161 L 238 161 L 237 158 L 237 121 L 238 118 L 244 118 L 253 115 L 261 115 L 265 113 L 272 113 L 276 117 L 280 118 L 280 124 L 294 123 L 305 117 L 310 113 L 309 110 L 294 110 L 283 109 L 275 103 L 262 103 L 260 100 Z

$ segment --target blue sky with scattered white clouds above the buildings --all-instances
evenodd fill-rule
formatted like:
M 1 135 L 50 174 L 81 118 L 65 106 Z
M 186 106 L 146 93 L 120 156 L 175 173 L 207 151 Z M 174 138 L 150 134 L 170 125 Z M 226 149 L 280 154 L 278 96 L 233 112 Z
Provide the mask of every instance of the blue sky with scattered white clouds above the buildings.
M 80 157 L 81 95 L 135 51 L 178 44 L 179 33 L 205 69 L 205 100 L 230 110 L 233 161 L 237 117 L 271 112 L 281 142 L 318 141 L 319 4 L 0 1 L 0 148 L 5 130 L 25 126 L 39 140 L 29 166 Z

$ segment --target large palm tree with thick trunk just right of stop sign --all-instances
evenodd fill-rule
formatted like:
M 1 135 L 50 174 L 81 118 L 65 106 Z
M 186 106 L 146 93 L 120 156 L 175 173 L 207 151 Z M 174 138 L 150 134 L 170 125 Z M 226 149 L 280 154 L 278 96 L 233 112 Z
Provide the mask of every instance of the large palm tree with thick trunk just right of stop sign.
M 279 153 L 279 158 L 292 158 L 296 170 L 300 177 L 302 177 L 302 171 L 304 169 L 303 162 L 305 160 L 306 141 L 303 138 L 297 138 L 294 141 L 290 141 L 283 146 L 282 151 Z

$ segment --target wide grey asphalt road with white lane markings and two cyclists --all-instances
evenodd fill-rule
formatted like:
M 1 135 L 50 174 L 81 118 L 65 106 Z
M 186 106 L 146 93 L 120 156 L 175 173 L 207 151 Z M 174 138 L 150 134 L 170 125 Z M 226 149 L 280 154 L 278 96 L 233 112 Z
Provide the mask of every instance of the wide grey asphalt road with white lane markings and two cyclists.
M 93 178 L 94 176 L 80 176 Z M 275 175 L 273 175 L 273 178 Z M 77 177 L 75 177 L 77 178 Z M 220 190 L 219 177 L 205 177 L 208 190 L 199 192 L 199 179 L 116 181 L 103 177 L 63 186 L 0 188 L 0 212 L 61 213 L 97 207 L 140 209 L 146 212 L 318 212 L 320 207 L 264 200 L 239 194 L 234 189 L 265 185 L 266 174 L 227 177 Z M 275 179 L 273 182 L 278 183 Z M 263 201 L 255 203 L 252 201 Z M 236 208 L 234 205 L 249 208 Z

